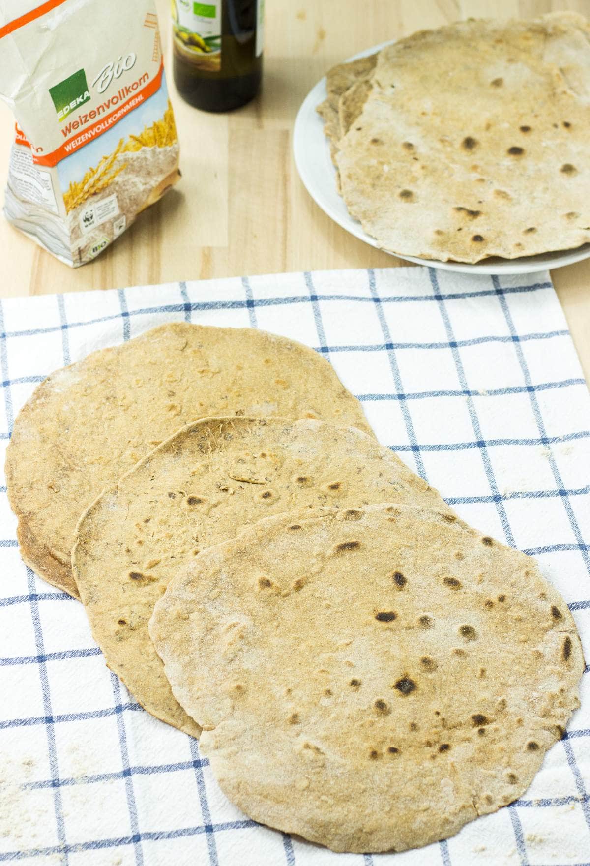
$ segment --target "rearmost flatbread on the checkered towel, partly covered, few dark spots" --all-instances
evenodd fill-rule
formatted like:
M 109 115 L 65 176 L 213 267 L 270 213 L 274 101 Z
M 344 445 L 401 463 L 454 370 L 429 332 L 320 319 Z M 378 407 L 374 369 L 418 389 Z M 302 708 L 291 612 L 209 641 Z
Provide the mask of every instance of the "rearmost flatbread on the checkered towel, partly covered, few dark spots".
M 307 346 L 252 328 L 173 322 L 52 373 L 6 456 L 25 562 L 78 597 L 81 512 L 175 430 L 211 415 L 317 417 L 369 431 L 360 403 Z

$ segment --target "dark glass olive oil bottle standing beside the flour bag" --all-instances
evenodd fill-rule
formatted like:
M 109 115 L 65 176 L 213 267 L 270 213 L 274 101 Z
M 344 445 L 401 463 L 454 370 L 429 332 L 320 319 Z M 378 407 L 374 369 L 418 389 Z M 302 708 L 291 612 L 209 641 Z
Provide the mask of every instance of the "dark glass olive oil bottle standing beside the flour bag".
M 174 81 L 204 111 L 250 102 L 263 73 L 264 0 L 172 0 Z

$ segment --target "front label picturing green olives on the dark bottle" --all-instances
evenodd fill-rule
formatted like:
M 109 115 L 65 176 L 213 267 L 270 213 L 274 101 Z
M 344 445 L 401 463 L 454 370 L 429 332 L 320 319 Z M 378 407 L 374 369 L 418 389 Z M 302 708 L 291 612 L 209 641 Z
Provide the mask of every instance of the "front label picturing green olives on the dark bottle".
M 221 3 L 209 0 L 172 0 L 174 47 L 200 69 L 221 68 Z

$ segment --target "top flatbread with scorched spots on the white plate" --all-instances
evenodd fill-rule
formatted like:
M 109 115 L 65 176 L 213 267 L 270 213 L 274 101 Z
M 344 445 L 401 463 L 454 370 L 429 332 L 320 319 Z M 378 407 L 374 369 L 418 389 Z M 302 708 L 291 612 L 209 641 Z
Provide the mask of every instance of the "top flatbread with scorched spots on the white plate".
M 339 141 L 351 215 L 393 253 L 458 262 L 590 241 L 590 27 L 465 21 L 379 52 Z

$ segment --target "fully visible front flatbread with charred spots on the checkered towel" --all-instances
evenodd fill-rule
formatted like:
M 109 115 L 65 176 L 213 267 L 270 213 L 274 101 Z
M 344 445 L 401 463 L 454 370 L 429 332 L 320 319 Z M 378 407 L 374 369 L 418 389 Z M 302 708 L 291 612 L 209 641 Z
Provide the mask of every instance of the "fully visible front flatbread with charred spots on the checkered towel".
M 336 851 L 496 811 L 580 706 L 535 561 L 431 509 L 263 520 L 178 572 L 150 634 L 230 800 Z

